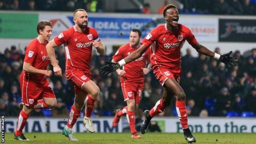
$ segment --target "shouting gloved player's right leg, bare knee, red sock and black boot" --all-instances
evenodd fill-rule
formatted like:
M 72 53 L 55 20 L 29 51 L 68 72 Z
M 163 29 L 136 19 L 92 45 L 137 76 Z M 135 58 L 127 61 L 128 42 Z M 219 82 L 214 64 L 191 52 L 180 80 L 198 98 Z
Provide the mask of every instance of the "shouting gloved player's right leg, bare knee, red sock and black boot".
M 167 79 L 165 82 L 166 89 L 172 91 L 176 97 L 176 110 L 178 117 L 180 119 L 180 123 L 183 129 L 183 133 L 185 135 L 185 139 L 191 143 L 196 142 L 196 138 L 191 134 L 188 127 L 188 116 L 186 109 L 186 94 L 181 88 L 181 86 L 175 81 L 175 79 Z

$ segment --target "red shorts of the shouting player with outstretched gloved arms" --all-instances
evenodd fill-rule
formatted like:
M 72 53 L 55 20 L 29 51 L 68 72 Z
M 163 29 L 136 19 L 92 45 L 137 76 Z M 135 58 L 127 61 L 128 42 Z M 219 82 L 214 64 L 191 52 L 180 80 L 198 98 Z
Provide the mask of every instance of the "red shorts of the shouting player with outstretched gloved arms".
M 153 73 L 156 79 L 159 81 L 159 83 L 162 86 L 164 85 L 164 82 L 168 78 L 174 78 L 177 83 L 180 83 L 180 74 L 181 74 L 180 65 L 177 65 L 171 68 L 156 67 Z

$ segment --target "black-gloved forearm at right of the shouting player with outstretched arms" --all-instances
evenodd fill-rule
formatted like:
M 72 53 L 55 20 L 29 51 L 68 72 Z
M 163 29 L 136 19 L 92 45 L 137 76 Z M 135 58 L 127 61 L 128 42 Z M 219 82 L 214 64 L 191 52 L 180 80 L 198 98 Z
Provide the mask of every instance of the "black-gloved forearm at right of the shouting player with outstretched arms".
M 203 46 L 203 45 L 201 45 L 199 43 L 197 43 L 196 45 L 192 45 L 192 46 L 196 49 L 196 51 L 198 53 L 202 53 L 204 55 L 207 55 L 209 57 L 217 59 L 217 60 L 225 63 L 228 67 L 234 67 L 237 64 L 237 62 L 238 62 L 238 59 L 236 57 L 230 56 L 232 51 L 230 51 L 229 53 L 220 55 L 218 53 L 210 51 L 205 46 Z

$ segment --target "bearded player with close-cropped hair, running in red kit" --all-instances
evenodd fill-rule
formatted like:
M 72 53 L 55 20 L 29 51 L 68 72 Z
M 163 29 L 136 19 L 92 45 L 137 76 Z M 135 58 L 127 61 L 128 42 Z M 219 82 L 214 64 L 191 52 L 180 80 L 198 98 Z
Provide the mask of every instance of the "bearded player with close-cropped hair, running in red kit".
M 61 76 L 62 71 L 55 58 L 54 47 L 64 44 L 66 55 L 66 75 L 67 79 L 74 84 L 75 101 L 71 107 L 67 125 L 62 130 L 62 134 L 71 141 L 77 141 L 72 128 L 85 104 L 85 116 L 83 119 L 85 128 L 89 132 L 95 132 L 92 123 L 92 111 L 94 101 L 99 95 L 99 87 L 91 81 L 91 57 L 92 46 L 100 54 L 105 54 L 105 46 L 100 41 L 98 31 L 88 25 L 88 14 L 83 9 L 75 10 L 75 25 L 62 31 L 47 44 L 46 50 L 51 59 L 53 71 Z M 86 97 L 87 95 L 87 97 Z

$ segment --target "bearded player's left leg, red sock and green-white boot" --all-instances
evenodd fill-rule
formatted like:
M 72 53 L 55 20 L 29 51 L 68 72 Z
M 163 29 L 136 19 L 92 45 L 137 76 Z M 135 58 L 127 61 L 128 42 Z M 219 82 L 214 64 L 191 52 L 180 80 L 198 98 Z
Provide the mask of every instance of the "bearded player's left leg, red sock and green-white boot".
M 77 141 L 77 139 L 74 137 L 72 129 L 77 121 L 77 118 L 79 117 L 82 108 L 84 107 L 84 100 L 86 98 L 86 94 L 83 91 L 75 93 L 75 100 L 69 113 L 68 122 L 65 128 L 62 130 L 62 134 L 68 137 L 70 141 Z

